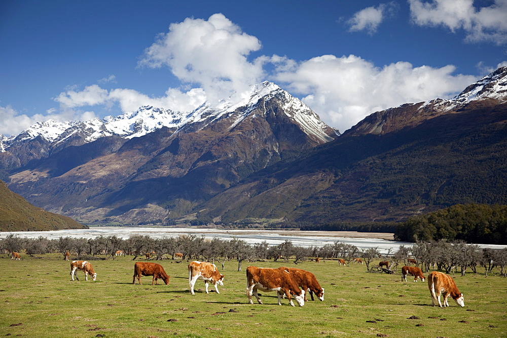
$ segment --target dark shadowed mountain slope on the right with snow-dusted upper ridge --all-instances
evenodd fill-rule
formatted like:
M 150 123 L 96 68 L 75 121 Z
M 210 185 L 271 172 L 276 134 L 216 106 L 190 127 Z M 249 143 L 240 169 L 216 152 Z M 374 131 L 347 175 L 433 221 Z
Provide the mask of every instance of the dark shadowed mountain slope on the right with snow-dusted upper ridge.
M 507 204 L 506 101 L 500 68 L 452 100 L 376 112 L 216 195 L 201 214 L 224 222 L 399 221 L 455 203 Z

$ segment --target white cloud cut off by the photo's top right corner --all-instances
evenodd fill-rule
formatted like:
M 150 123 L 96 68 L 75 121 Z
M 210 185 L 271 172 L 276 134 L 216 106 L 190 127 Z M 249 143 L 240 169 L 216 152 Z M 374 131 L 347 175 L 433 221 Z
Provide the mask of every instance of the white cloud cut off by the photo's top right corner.
M 469 43 L 486 41 L 507 44 L 507 0 L 494 0 L 489 7 L 476 8 L 473 0 L 408 0 L 412 21 L 420 26 L 463 29 Z

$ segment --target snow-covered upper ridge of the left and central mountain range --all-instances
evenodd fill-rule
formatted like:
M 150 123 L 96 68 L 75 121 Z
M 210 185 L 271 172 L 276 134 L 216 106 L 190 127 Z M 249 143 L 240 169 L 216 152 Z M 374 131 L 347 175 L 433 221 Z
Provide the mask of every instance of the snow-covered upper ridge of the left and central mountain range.
M 152 133 L 162 127 L 182 129 L 189 124 L 199 123 L 200 128 L 213 121 L 237 115 L 231 124 L 234 127 L 241 119 L 251 113 L 253 107 L 263 99 L 276 98 L 283 103 L 283 110 L 288 117 L 299 122 L 303 131 L 324 142 L 333 138 L 329 136 L 330 127 L 320 120 L 307 105 L 294 98 L 274 83 L 265 81 L 252 86 L 250 92 L 236 93 L 218 104 L 204 103 L 191 112 L 172 111 L 153 106 L 142 106 L 137 111 L 125 112 L 119 116 L 107 116 L 104 119 L 92 118 L 87 121 L 57 122 L 48 120 L 38 122 L 18 135 L 0 138 L 0 150 L 8 150 L 13 144 L 32 140 L 40 136 L 54 145 L 80 134 L 82 143 L 93 142 L 104 136 L 119 136 L 126 139 Z M 238 113 L 237 110 L 241 112 Z

